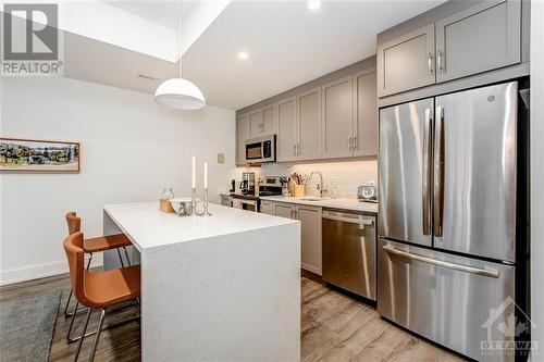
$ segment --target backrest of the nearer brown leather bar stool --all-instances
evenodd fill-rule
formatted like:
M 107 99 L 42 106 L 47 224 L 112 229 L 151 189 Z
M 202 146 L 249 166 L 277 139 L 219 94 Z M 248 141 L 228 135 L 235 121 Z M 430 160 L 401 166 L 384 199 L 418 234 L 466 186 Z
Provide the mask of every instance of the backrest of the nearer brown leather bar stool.
M 70 267 L 70 283 L 74 290 L 74 296 L 84 305 L 88 305 L 87 297 L 85 296 L 84 288 L 84 274 L 86 273 L 84 266 L 84 251 L 83 251 L 83 233 L 77 232 L 69 235 L 64 239 L 64 251 Z

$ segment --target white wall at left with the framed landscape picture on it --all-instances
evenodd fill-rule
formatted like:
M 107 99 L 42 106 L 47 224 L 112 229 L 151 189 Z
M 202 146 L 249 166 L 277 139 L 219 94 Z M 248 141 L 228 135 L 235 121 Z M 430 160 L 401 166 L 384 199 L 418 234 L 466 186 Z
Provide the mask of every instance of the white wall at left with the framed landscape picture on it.
M 190 155 L 210 164 L 217 198 L 234 168 L 234 112 L 165 110 L 145 93 L 69 78 L 1 80 L 2 137 L 82 142 L 79 174 L 1 174 L 0 283 L 66 271 L 64 213 L 86 236 L 102 232 L 102 205 L 190 195 Z M 226 155 L 217 164 L 218 152 Z

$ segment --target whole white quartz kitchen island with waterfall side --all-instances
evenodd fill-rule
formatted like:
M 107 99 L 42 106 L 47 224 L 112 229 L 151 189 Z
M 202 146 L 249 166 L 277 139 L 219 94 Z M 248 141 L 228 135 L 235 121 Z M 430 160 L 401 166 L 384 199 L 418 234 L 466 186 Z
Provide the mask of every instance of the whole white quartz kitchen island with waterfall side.
M 158 202 L 109 204 L 141 264 L 143 361 L 298 361 L 300 223 L 210 204 L 178 217 Z M 113 254 L 104 266 L 113 267 Z

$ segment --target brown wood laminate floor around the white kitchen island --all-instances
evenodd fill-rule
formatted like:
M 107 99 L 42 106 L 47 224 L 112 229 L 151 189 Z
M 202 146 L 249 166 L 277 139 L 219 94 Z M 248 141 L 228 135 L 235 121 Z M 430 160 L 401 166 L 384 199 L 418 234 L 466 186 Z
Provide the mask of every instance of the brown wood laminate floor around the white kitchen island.
M 61 290 L 62 298 L 50 361 L 72 361 L 77 344 L 66 344 L 70 320 L 63 314 L 70 292 L 67 275 L 0 287 L 0 300 L 51 290 Z M 462 361 L 386 322 L 374 309 L 327 288 L 319 279 L 302 277 L 301 296 L 302 361 Z M 112 311 L 108 314 L 107 325 L 138 313 L 137 305 Z M 77 321 L 82 319 L 83 315 L 79 315 Z M 94 327 L 97 321 L 98 313 L 91 317 L 89 327 Z M 139 321 L 102 332 L 95 361 L 139 361 Z M 92 337 L 85 339 L 82 361 L 86 361 Z

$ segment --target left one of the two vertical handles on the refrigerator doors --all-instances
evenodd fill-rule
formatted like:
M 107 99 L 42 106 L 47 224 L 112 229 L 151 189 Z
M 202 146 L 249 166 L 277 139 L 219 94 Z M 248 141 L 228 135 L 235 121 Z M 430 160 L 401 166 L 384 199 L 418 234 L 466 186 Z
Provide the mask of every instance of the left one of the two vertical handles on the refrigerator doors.
M 431 110 L 425 109 L 425 124 L 423 134 L 423 167 L 422 167 L 422 223 L 423 235 L 431 235 L 431 165 L 432 165 L 432 117 Z

